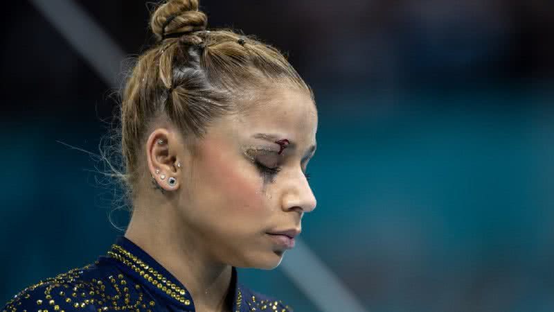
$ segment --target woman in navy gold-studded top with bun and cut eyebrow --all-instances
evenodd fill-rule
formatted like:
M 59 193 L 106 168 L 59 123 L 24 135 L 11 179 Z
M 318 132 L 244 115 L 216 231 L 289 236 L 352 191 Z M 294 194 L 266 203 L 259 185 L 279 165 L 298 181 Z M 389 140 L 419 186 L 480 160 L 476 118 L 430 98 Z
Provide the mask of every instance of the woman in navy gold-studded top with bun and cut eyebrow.
M 311 89 L 271 46 L 207 31 L 197 0 L 164 3 L 151 27 L 159 42 L 120 111 L 125 235 L 6 311 L 292 311 L 238 284 L 235 267 L 278 266 L 316 207 Z

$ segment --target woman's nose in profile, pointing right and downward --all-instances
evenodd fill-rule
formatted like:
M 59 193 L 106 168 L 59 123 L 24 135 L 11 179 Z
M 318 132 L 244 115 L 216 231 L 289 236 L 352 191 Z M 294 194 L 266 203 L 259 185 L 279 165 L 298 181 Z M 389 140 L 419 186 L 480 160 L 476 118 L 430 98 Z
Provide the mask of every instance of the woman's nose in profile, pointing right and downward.
M 294 176 L 287 179 L 287 187 L 283 196 L 283 210 L 301 209 L 303 212 L 310 212 L 316 208 L 316 205 L 317 200 L 304 173 L 301 170 L 296 171 Z

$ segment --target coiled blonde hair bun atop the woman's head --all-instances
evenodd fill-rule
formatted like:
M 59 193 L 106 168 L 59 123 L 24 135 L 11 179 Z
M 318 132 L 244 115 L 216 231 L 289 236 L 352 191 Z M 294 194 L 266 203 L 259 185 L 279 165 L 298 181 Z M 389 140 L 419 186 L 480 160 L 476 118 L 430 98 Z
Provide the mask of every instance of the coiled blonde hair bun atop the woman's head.
M 198 0 L 169 0 L 152 14 L 150 27 L 158 40 L 172 33 L 204 31 L 208 17 L 198 10 Z

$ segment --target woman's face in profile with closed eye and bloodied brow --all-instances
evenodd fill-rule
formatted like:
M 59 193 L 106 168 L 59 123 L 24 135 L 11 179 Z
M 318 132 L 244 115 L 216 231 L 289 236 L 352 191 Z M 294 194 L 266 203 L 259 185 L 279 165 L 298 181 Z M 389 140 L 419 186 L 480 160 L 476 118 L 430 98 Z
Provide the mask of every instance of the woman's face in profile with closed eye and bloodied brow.
M 238 267 L 278 266 L 294 245 L 287 236 L 316 207 L 305 177 L 316 145 L 313 101 L 280 88 L 262 102 L 208 128 L 179 187 L 184 226 L 202 243 L 195 245 Z

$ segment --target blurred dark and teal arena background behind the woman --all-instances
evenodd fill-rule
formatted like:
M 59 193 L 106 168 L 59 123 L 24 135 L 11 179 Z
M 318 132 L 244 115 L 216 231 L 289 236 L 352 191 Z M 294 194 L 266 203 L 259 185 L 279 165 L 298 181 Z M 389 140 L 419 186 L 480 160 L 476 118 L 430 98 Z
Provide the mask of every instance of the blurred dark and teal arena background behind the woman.
M 554 311 L 553 1 L 201 6 L 209 28 L 233 26 L 287 51 L 319 107 L 308 167 L 318 208 L 304 218 L 303 244 L 276 270 L 242 270 L 244 284 L 297 312 L 334 302 Z M 91 263 L 122 233 L 108 220 L 117 194 L 96 182 L 98 164 L 65 144 L 98 153 L 124 61 L 152 42 L 152 4 L 3 8 L 6 302 Z M 112 217 L 125 225 L 121 211 Z

